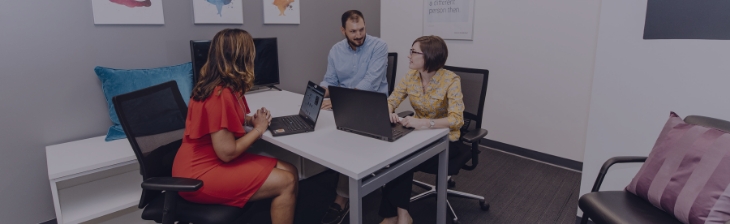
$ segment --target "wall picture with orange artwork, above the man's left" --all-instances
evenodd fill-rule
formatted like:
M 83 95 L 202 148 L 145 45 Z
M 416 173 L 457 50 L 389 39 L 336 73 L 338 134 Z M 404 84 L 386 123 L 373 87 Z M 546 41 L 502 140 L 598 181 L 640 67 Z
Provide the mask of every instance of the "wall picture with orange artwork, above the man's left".
M 264 24 L 299 24 L 299 0 L 263 0 Z

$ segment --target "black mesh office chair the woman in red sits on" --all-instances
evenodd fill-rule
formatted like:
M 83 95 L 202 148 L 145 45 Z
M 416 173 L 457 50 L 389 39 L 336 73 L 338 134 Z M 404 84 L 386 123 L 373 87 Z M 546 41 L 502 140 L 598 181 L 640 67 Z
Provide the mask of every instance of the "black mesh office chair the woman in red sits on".
M 112 98 L 119 121 L 142 174 L 142 219 L 157 223 L 237 223 L 250 217 L 247 207 L 188 202 L 177 192 L 196 191 L 203 182 L 171 177 L 185 130 L 187 106 L 175 81 Z

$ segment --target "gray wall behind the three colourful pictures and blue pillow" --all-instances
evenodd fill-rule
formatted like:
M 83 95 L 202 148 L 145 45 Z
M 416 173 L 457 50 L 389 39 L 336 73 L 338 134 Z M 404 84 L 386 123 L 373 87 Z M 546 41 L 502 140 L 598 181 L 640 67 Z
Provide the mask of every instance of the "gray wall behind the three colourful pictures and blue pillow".
M 301 93 L 307 80 L 322 80 L 327 52 L 343 38 L 342 12 L 361 10 L 368 33 L 380 36 L 380 1 L 306 1 L 300 25 L 263 25 L 262 1 L 244 0 L 243 26 L 194 25 L 190 1 L 163 4 L 163 26 L 96 26 L 88 0 L 0 1 L 0 223 L 53 219 L 45 146 L 106 134 L 94 66 L 188 62 L 189 40 L 239 27 L 279 38 L 281 87 Z

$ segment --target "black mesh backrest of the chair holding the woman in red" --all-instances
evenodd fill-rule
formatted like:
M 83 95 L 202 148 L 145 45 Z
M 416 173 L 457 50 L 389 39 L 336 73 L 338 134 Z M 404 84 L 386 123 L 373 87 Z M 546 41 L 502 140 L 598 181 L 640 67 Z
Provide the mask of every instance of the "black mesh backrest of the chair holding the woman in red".
M 169 177 L 185 131 L 187 106 L 175 81 L 112 98 L 142 178 Z M 143 191 L 140 208 L 161 192 Z

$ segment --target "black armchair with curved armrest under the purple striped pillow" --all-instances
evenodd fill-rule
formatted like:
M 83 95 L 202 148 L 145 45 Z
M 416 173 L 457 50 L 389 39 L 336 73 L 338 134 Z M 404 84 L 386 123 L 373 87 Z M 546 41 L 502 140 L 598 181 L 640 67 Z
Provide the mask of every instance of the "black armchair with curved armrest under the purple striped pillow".
M 684 122 L 716 128 L 730 132 L 730 122 L 704 117 L 687 116 Z M 626 190 L 623 191 L 599 191 L 603 178 L 606 177 L 608 168 L 617 163 L 643 163 L 647 157 L 644 156 L 619 156 L 608 159 L 598 172 L 596 182 L 593 184 L 591 193 L 587 193 L 578 200 L 578 207 L 583 211 L 581 224 L 588 223 L 588 218 L 596 224 L 603 223 L 661 223 L 673 224 L 682 223 L 674 215 L 666 213 L 654 207 L 651 203 Z

